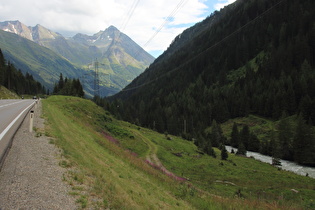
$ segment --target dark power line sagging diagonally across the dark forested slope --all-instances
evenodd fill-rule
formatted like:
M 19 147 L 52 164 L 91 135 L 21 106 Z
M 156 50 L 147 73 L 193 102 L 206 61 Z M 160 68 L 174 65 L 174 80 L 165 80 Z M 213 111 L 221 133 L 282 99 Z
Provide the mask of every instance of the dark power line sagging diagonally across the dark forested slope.
M 209 50 L 215 48 L 216 46 L 220 45 L 222 42 L 224 42 L 225 40 L 229 39 L 230 37 L 236 35 L 237 33 L 241 32 L 241 30 L 243 30 L 244 28 L 246 28 L 247 26 L 249 26 L 251 23 L 255 22 L 258 18 L 261 18 L 262 16 L 266 15 L 268 12 L 270 12 L 272 9 L 274 9 L 275 7 L 277 7 L 278 5 L 280 5 L 281 3 L 283 3 L 286 0 L 281 0 L 279 2 L 277 2 L 275 5 L 273 5 L 272 7 L 270 7 L 269 9 L 265 10 L 264 12 L 262 12 L 260 15 L 256 16 L 254 19 L 250 20 L 249 22 L 247 22 L 246 24 L 244 24 L 243 26 L 241 26 L 240 28 L 236 29 L 235 31 L 233 31 L 232 33 L 230 33 L 229 35 L 225 36 L 224 38 L 222 38 L 220 41 L 216 42 L 215 44 L 211 45 L 210 47 L 208 47 L 207 49 L 205 49 L 204 51 L 198 53 L 197 55 L 195 55 L 194 57 L 186 60 L 185 62 L 183 62 L 180 66 L 175 67 L 174 69 L 168 71 L 165 74 L 162 74 L 161 76 L 150 80 L 148 82 L 145 82 L 141 85 L 135 86 L 135 87 L 131 87 L 131 88 L 127 88 L 127 89 L 123 89 L 121 90 L 121 92 L 126 92 L 126 91 L 131 91 L 131 90 L 135 90 L 138 89 L 140 87 L 146 86 L 148 84 L 151 84 L 163 77 L 165 77 L 166 75 L 169 75 L 177 70 L 179 70 L 182 66 L 186 65 L 187 63 L 191 62 L 192 60 L 196 59 L 197 57 L 199 57 L 200 55 L 208 52 Z

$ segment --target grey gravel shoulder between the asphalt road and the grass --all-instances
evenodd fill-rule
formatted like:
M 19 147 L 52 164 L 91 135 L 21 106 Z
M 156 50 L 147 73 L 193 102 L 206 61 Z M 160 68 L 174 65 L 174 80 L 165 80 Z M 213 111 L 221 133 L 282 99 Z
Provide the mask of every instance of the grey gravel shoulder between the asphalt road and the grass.
M 41 104 L 35 109 L 34 127 L 29 116 L 17 131 L 0 171 L 0 210 L 77 209 L 70 186 L 63 181 L 67 169 L 59 166 L 60 150 L 44 133 Z

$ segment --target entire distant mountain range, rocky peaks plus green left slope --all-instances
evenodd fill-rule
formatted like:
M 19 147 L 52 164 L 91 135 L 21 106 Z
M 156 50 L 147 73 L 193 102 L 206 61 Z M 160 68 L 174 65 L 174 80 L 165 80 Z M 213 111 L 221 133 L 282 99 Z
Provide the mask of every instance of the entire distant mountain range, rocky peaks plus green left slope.
M 92 98 L 96 88 L 102 97 L 113 95 L 154 61 L 114 26 L 92 36 L 76 34 L 70 38 L 20 21 L 0 22 L 0 29 L 0 48 L 6 60 L 23 73 L 33 74 L 51 91 L 63 73 L 68 78 L 79 78 L 87 97 Z M 94 87 L 95 71 L 98 87 Z

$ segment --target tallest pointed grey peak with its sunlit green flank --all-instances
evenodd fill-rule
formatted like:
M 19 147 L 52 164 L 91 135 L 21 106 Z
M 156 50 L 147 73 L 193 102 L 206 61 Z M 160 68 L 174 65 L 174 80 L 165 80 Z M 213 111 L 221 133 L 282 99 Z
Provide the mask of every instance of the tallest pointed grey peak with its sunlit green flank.
M 103 82 L 110 78 L 110 86 L 123 88 L 144 71 L 154 58 L 138 44 L 114 26 L 93 36 L 77 34 L 68 39 L 69 43 L 87 48 L 94 58 L 98 58 Z M 84 48 L 82 47 L 82 48 Z M 81 58 L 81 65 L 91 63 L 92 58 Z M 78 62 L 79 63 L 79 62 Z M 102 82 L 102 81 L 101 81 Z

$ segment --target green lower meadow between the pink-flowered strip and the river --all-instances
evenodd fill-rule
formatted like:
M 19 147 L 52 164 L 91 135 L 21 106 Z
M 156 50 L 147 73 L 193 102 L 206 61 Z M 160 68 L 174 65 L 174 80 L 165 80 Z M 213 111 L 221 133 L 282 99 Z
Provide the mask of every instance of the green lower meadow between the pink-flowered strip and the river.
M 145 130 L 146 137 L 158 147 L 158 157 L 166 168 L 188 178 L 198 188 L 223 197 L 233 198 L 238 191 L 249 200 L 265 200 L 279 205 L 314 206 L 315 181 L 255 161 L 229 154 L 228 161 L 198 153 L 192 142 Z M 176 154 L 181 154 L 178 157 Z M 222 181 L 225 183 L 223 184 Z M 291 189 L 298 189 L 297 195 Z

